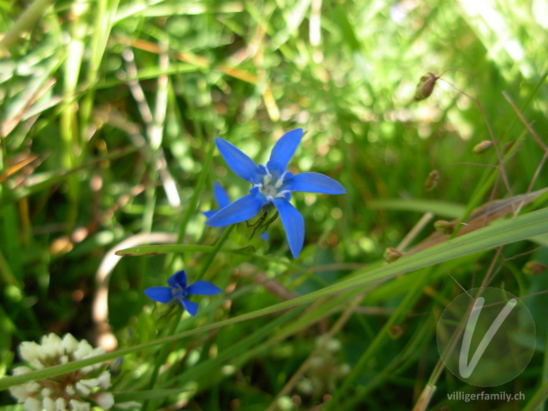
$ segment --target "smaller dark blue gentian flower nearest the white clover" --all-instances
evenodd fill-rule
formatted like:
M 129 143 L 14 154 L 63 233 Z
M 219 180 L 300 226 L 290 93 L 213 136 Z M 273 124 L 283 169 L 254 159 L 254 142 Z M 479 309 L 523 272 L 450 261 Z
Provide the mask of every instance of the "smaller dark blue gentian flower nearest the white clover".
M 195 282 L 191 286 L 186 286 L 186 273 L 184 270 L 177 271 L 167 279 L 169 287 L 150 287 L 145 290 L 145 294 L 159 303 L 169 303 L 178 299 L 185 310 L 192 316 L 198 312 L 198 304 L 189 301 L 188 295 L 214 295 L 223 292 L 216 285 L 204 281 L 203 279 Z

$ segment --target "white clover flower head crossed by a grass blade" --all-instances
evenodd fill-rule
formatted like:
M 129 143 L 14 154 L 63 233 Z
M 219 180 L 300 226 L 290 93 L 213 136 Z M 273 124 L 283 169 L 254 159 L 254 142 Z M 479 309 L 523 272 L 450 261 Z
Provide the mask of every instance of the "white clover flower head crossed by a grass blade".
M 15 367 L 14 375 L 23 375 L 48 366 L 66 364 L 103 354 L 102 347 L 93 348 L 86 340 L 78 341 L 71 334 L 60 338 L 56 334 L 42 336 L 40 344 L 25 341 L 19 345 L 19 355 L 27 365 Z M 92 404 L 103 410 L 114 406 L 110 388 L 110 373 L 99 369 L 102 363 L 85 366 L 82 369 L 42 379 L 26 382 L 10 388 L 11 395 L 27 411 L 89 411 Z

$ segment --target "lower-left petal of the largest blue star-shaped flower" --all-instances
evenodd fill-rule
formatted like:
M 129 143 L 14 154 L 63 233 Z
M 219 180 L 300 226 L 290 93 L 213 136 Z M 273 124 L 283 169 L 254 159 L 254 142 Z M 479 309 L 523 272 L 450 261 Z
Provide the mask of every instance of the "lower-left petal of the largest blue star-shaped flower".
M 216 212 L 206 225 L 212 227 L 223 227 L 225 225 L 241 223 L 256 216 L 264 204 L 266 204 L 264 195 L 259 192 L 256 187 L 251 188 L 251 194 L 237 199 L 234 203 L 230 203 L 225 208 Z

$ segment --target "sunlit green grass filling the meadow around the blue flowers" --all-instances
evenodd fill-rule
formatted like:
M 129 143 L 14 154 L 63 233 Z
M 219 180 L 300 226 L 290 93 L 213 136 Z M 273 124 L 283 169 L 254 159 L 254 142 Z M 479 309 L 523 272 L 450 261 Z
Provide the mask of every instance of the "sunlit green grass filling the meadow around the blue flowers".
M 0 2 L 0 388 L 123 355 L 116 401 L 148 410 L 546 410 L 547 273 L 522 271 L 548 265 L 541 3 Z M 413 101 L 428 72 L 445 73 Z M 347 190 L 293 195 L 299 258 L 279 219 L 268 242 L 207 227 L 215 181 L 249 190 L 214 138 L 264 164 L 297 127 L 290 170 Z M 482 140 L 495 147 L 476 155 Z M 414 249 L 434 221 L 527 192 Z M 403 258 L 385 264 L 388 247 Z M 196 317 L 143 294 L 178 269 L 225 292 L 196 297 Z M 96 340 L 101 275 L 117 351 L 8 377 L 23 341 Z M 480 285 L 536 323 L 530 364 L 493 388 L 454 377 L 436 346 L 440 312 Z

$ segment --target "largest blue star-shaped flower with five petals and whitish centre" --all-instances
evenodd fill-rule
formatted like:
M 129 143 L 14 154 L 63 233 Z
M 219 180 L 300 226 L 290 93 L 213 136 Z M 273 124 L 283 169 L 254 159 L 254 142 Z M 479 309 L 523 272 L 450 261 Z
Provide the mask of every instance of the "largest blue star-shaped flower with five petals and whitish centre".
M 238 177 L 253 184 L 251 194 L 229 203 L 215 212 L 206 225 L 223 227 L 247 221 L 258 214 L 263 206 L 271 202 L 277 208 L 293 257 L 297 258 L 304 243 L 304 221 L 291 205 L 294 191 L 319 192 L 323 194 L 344 194 L 345 188 L 334 179 L 319 173 L 292 175 L 287 164 L 301 142 L 303 129 L 287 132 L 277 140 L 266 166 L 258 166 L 245 153 L 226 140 L 217 137 L 217 148 L 228 166 Z

